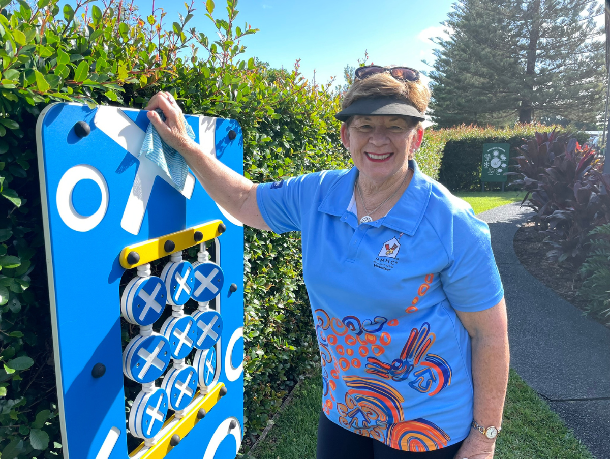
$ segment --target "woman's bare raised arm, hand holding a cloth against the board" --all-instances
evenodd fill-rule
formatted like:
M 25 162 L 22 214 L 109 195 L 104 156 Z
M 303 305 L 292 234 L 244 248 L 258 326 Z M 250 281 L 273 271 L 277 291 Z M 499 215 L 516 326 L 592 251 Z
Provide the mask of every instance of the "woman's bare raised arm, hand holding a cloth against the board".
M 163 110 L 165 121 L 154 111 Z M 270 229 L 260 215 L 256 184 L 204 153 L 187 135 L 182 110 L 168 92 L 152 96 L 145 110 L 163 142 L 182 154 L 210 197 L 244 225 Z

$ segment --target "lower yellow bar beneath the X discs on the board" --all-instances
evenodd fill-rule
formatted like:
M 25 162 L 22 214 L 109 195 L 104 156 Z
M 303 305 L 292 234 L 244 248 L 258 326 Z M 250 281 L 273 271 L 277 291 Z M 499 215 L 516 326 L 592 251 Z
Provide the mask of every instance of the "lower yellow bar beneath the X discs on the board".
M 222 398 L 220 395 L 220 389 L 224 387 L 223 383 L 218 383 L 214 388 L 208 392 L 208 394 L 203 397 L 203 399 L 199 400 L 199 402 L 188 411 L 187 414 L 178 421 L 178 424 L 174 425 L 170 430 L 168 430 L 165 435 L 163 435 L 157 443 L 154 444 L 148 451 L 146 451 L 140 459 L 163 459 L 168 452 L 170 452 L 174 447 L 171 446 L 170 441 L 171 437 L 176 435 L 176 433 L 180 436 L 180 439 L 184 438 L 190 430 L 195 427 L 199 421 L 203 421 L 203 419 L 199 419 L 197 417 L 197 413 L 199 410 L 203 408 L 206 410 L 206 413 L 209 413 L 214 405 Z M 195 394 L 195 398 L 199 395 L 199 392 Z M 174 421 L 174 415 L 172 414 L 167 421 L 165 421 L 165 425 Z M 163 427 L 165 427 L 165 425 Z M 134 457 L 138 451 L 140 451 L 144 447 L 144 443 L 141 443 L 134 451 L 129 455 L 129 457 Z

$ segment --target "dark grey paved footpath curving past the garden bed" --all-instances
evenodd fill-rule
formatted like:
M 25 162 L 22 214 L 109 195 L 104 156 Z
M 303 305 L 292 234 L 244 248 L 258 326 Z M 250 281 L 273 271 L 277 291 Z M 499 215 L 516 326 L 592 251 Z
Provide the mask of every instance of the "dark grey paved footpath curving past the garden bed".
M 527 214 L 515 203 L 477 215 L 489 224 L 504 283 L 511 367 L 597 459 L 610 459 L 610 330 L 520 264 L 512 240 Z

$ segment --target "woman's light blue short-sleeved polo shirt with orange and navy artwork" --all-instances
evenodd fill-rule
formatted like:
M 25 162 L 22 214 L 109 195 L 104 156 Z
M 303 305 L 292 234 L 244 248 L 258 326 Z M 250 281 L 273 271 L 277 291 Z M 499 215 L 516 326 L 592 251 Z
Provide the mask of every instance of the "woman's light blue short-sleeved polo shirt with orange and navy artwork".
M 473 419 L 470 338 L 456 315 L 504 295 L 489 228 L 424 175 L 385 217 L 350 212 L 357 169 L 257 187 L 276 233 L 301 231 L 326 416 L 407 451 L 464 439 Z

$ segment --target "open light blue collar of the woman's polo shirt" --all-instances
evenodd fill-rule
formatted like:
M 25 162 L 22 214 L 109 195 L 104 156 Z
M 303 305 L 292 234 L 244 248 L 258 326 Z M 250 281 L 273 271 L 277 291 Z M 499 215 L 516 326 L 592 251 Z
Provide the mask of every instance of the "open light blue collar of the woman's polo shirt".
M 432 182 L 420 171 L 414 159 L 409 160 L 409 167 L 414 171 L 413 177 L 398 202 L 394 204 L 386 217 L 382 217 L 374 222 L 363 223 L 363 225 L 383 225 L 409 236 L 415 234 L 428 206 L 432 192 Z M 347 214 L 351 215 L 347 208 L 354 192 L 357 176 L 358 170 L 356 167 L 352 167 L 348 173 L 341 176 L 321 202 L 318 211 L 342 217 L 342 220 L 345 221 L 348 218 Z

